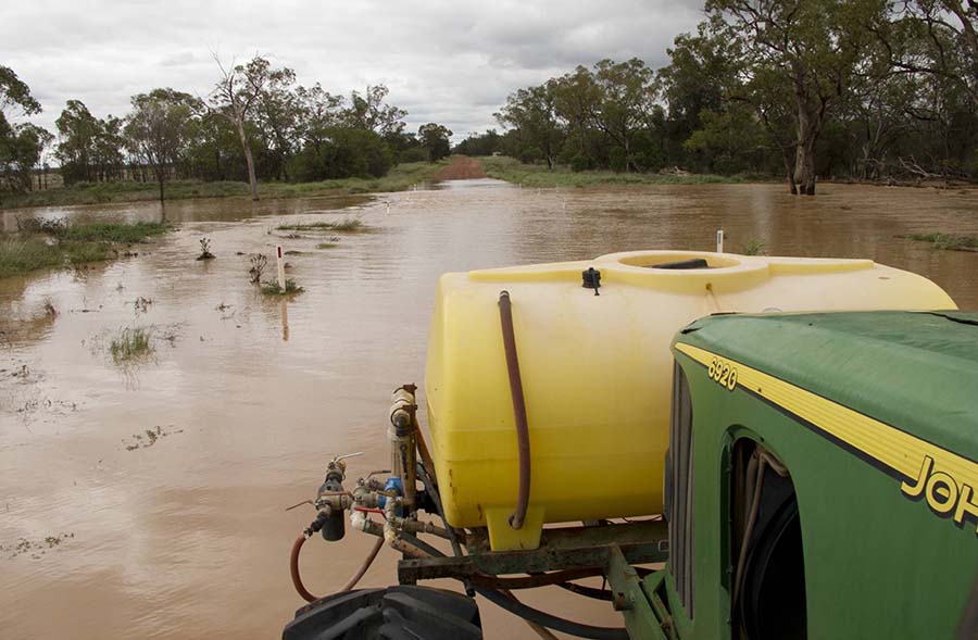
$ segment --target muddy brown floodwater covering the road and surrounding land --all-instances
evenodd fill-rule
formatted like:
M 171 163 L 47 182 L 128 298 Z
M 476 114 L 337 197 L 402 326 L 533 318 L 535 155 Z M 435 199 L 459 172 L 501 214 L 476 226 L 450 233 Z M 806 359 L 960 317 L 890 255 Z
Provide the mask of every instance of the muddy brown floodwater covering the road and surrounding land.
M 518 189 L 494 180 L 379 200 L 167 204 L 178 230 L 139 255 L 0 281 L 0 636 L 273 638 L 301 601 L 287 557 L 328 457 L 385 465 L 391 390 L 422 382 L 438 276 L 635 249 L 727 249 L 872 258 L 924 274 L 978 308 L 978 254 L 908 233 L 978 234 L 978 192 L 825 185 Z M 386 202 L 390 202 L 390 209 Z M 158 204 L 7 212 L 159 219 Z M 373 233 L 287 239 L 289 222 L 355 216 Z M 206 236 L 212 261 L 195 261 Z M 263 299 L 248 256 L 281 242 L 305 292 Z M 267 276 L 273 273 L 269 268 Z M 140 301 L 140 299 L 142 299 Z M 48 305 L 57 311 L 51 314 Z M 288 324 L 285 324 L 287 316 Z M 151 331 L 146 362 L 113 364 L 112 336 Z M 152 431 L 154 435 L 147 434 Z M 303 551 L 311 590 L 338 588 L 369 540 Z M 364 585 L 394 580 L 383 552 Z M 603 603 L 540 590 L 543 606 L 592 624 Z M 481 603 L 488 638 L 534 637 Z

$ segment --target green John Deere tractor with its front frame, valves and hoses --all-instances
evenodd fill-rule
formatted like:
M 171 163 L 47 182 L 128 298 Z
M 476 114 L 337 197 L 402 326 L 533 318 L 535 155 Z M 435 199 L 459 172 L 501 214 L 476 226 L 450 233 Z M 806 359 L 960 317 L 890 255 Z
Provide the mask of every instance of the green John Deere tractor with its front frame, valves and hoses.
M 505 313 L 524 461 L 527 403 Z M 310 604 L 284 638 L 481 638 L 476 593 L 543 638 L 978 638 L 978 313 L 718 313 L 681 328 L 672 354 L 664 477 L 649 479 L 662 515 L 544 527 L 525 548 L 446 517 L 456 480 L 436 472 L 443 453 L 422 435 L 414 387 L 399 389 L 389 476 L 348 489 L 346 461 L 327 469 L 292 553 Z M 317 531 L 342 537 L 347 513 L 377 544 L 341 592 L 316 599 L 299 550 Z M 402 554 L 400 586 L 355 590 L 385 543 Z M 602 587 L 580 583 L 595 576 Z M 465 593 L 417 586 L 435 578 Z M 606 601 L 623 623 L 521 602 L 521 589 L 542 586 Z

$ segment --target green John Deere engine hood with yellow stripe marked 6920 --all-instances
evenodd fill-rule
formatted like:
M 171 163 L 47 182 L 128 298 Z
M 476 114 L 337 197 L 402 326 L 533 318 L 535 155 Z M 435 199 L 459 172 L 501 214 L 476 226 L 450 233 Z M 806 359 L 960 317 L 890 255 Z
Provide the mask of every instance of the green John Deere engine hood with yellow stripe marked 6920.
M 978 572 L 978 314 L 718 315 L 673 353 L 669 561 L 630 636 L 955 637 Z

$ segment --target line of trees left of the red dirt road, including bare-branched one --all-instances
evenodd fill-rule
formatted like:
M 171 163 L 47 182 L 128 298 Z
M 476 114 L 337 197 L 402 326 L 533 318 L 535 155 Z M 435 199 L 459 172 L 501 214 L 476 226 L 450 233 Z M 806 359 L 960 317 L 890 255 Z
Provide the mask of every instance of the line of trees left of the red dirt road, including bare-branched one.
M 40 104 L 13 70 L 0 65 L 0 193 L 37 188 L 53 158 L 65 185 L 155 180 L 160 199 L 174 178 L 313 181 L 380 177 L 399 162 L 437 161 L 451 131 L 436 123 L 406 131 L 408 112 L 384 85 L 334 95 L 297 85 L 290 68 L 262 57 L 225 66 L 205 97 L 171 88 L 134 96 L 123 117 L 93 115 L 70 100 L 57 136 L 24 120 Z M 42 184 L 42 183 L 41 183 Z

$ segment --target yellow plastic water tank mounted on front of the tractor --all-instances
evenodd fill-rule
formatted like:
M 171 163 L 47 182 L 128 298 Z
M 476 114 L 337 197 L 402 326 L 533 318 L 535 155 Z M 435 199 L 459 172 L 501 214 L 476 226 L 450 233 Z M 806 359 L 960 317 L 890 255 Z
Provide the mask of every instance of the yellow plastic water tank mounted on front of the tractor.
M 694 259 L 706 268 L 656 265 Z M 581 272 L 601 273 L 599 296 Z M 530 434 L 523 528 L 498 300 L 512 300 Z M 441 498 L 493 550 L 535 549 L 544 523 L 660 513 L 673 335 L 717 312 L 956 309 L 930 280 L 869 260 L 639 251 L 441 277 L 425 390 Z M 790 354 L 786 354 L 790 356 Z

